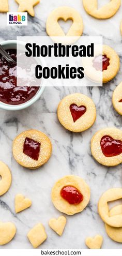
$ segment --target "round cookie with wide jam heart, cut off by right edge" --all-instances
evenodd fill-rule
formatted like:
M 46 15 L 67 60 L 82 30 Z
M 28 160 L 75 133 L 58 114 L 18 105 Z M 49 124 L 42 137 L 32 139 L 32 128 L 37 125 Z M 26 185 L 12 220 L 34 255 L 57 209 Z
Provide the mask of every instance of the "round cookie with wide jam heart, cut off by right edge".
M 99 163 L 115 166 L 122 162 L 122 131 L 105 128 L 91 139 L 91 154 Z

